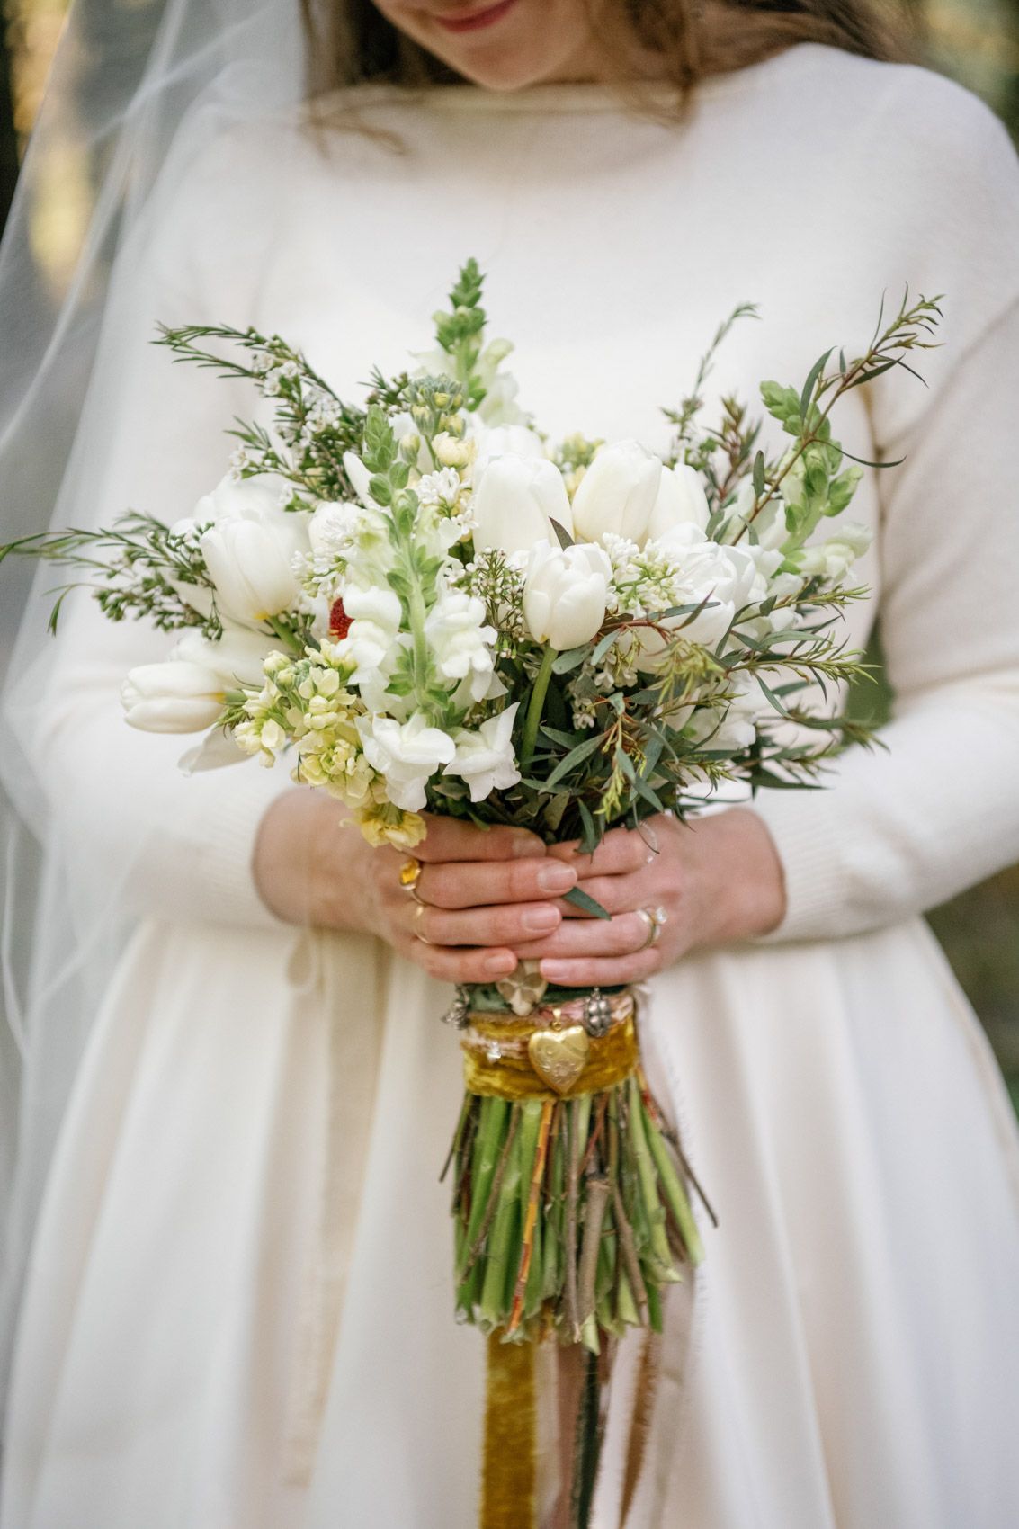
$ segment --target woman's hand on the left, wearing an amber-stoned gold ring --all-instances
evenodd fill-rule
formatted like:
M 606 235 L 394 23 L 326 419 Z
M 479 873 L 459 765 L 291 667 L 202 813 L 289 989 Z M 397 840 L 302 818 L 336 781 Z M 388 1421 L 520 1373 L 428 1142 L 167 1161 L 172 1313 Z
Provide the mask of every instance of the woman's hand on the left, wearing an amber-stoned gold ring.
M 407 853 L 372 847 L 324 792 L 298 786 L 265 813 L 254 852 L 262 901 L 288 924 L 376 934 L 431 977 L 497 982 L 516 946 L 552 934 L 577 872 L 526 829 L 476 829 L 425 815 L 415 901 L 399 884 Z

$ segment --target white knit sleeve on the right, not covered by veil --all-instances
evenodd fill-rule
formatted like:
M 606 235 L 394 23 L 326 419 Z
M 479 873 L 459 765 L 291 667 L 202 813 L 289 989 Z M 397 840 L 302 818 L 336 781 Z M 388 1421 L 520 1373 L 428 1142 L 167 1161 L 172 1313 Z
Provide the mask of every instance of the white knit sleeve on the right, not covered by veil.
M 894 719 L 886 748 L 849 749 L 828 789 L 757 797 L 788 891 L 771 940 L 890 924 L 1019 856 L 1019 171 L 969 102 L 946 177 L 923 182 L 946 346 L 921 361 L 932 385 L 912 417 L 901 388 L 872 404 L 883 460 L 906 457 L 877 479 Z M 930 164 L 939 147 L 935 131 Z M 918 219 L 918 248 L 923 232 Z

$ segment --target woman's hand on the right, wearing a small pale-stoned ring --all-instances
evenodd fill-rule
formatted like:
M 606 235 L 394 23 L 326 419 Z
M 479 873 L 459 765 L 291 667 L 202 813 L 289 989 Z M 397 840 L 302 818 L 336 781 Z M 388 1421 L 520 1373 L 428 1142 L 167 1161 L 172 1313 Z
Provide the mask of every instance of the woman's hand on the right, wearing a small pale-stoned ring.
M 767 934 L 785 914 L 782 862 L 753 809 L 730 807 L 689 824 L 661 815 L 640 830 L 612 829 L 594 855 L 580 855 L 575 842 L 548 853 L 575 865 L 580 888 L 612 914 L 595 919 L 562 902 L 558 930 L 516 946 L 558 986 L 641 982 L 698 946 Z M 652 914 L 659 927 L 653 945 Z

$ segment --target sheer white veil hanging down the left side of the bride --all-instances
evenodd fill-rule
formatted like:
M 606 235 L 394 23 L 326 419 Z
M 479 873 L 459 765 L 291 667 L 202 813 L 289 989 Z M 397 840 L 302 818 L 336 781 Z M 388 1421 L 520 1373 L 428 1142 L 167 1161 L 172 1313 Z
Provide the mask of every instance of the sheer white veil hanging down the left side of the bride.
M 127 11 L 75 0 L 0 249 L 0 541 L 109 523 L 127 508 L 115 485 L 119 422 L 136 382 L 132 342 L 139 324 L 151 335 L 162 317 L 158 286 L 174 286 L 151 231 L 171 226 L 171 209 L 187 203 L 203 145 L 231 124 L 294 106 L 301 92 L 294 0 L 144 0 Z M 40 213 L 69 161 L 87 206 L 77 258 L 54 291 L 38 258 Z M 181 394 L 193 388 L 194 378 Z M 214 396 L 222 419 L 214 388 L 203 393 L 199 382 L 197 394 Z M 193 486 L 207 488 L 184 472 L 155 498 L 174 515 L 174 491 Z M 60 683 L 78 602 L 54 642 L 50 601 L 40 598 L 54 584 L 52 569 L 35 578 L 18 560 L 0 569 L 0 1391 L 55 1131 L 122 948 L 125 888 L 150 849 L 142 824 L 133 841 L 113 839 L 101 823 L 89 842 L 55 829 L 50 792 L 61 787 L 47 777 L 40 697 Z

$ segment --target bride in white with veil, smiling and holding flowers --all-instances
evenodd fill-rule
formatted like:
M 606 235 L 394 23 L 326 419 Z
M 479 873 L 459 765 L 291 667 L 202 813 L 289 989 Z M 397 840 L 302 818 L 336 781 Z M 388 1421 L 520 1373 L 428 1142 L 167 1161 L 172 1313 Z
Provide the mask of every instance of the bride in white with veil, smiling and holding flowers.
M 44 858 L 2 1529 L 476 1521 L 483 1346 L 453 1321 L 438 1017 L 450 982 L 522 956 L 565 985 L 649 980 L 647 1069 L 718 1212 L 692 1306 L 669 1304 L 626 1526 L 1010 1529 L 1019 1133 L 920 917 L 1019 855 L 1004 130 L 890 61 L 863 0 L 167 0 L 138 58 L 112 9 L 72 18 L 0 268 L 0 541 L 49 521 L 64 436 L 58 524 L 173 521 L 222 477 L 249 401 L 170 365 L 156 323 L 278 330 L 355 396 L 424 349 L 468 254 L 552 433 L 664 445 L 655 404 L 741 300 L 762 317 L 715 404 L 866 349 L 906 283 L 944 294 L 944 346 L 927 387 L 894 370 L 840 417 L 857 456 L 904 459 L 854 506 L 875 598 L 851 636 L 880 616 L 887 748 L 825 790 L 655 820 L 650 856 L 626 830 L 581 858 L 433 821 L 416 920 L 401 856 L 335 803 L 252 764 L 185 778 L 177 740 L 124 726 L 125 671 L 170 638 L 72 595 L 54 644 L 41 592 L 8 586 L 5 780 Z M 93 55 L 81 73 L 96 23 L 121 49 L 106 116 Z M 75 109 L 106 179 L 69 306 L 29 335 L 20 242 Z M 569 916 L 574 885 L 607 928 Z M 615 1358 L 598 1529 L 621 1523 L 638 1358 Z

